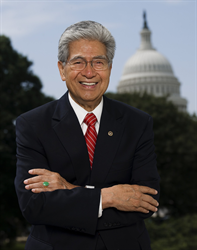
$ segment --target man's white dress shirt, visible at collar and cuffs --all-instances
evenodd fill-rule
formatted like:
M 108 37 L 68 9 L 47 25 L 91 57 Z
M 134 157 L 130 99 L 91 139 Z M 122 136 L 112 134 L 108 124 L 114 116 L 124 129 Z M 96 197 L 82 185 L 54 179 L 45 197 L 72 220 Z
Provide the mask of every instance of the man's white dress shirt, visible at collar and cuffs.
M 100 120 L 101 120 L 101 114 L 102 114 L 102 110 L 103 110 L 103 97 L 101 99 L 101 102 L 99 103 L 99 105 L 94 109 L 92 110 L 91 112 L 88 112 L 87 110 L 85 110 L 84 108 L 82 108 L 79 104 L 77 104 L 73 99 L 72 97 L 70 96 L 70 93 L 68 93 L 68 100 L 70 102 L 70 105 L 72 106 L 77 118 L 78 118 L 78 121 L 79 121 L 79 124 L 81 125 L 81 129 L 83 131 L 83 134 L 85 135 L 86 131 L 87 131 L 87 128 L 88 126 L 83 122 L 84 121 L 84 118 L 86 117 L 86 115 L 88 113 L 93 113 L 96 118 L 97 118 L 97 122 L 95 124 L 95 129 L 96 129 L 96 132 L 98 134 L 99 132 L 99 127 L 100 127 Z M 94 188 L 94 186 L 86 186 L 87 188 Z M 98 213 L 98 217 L 101 217 L 102 216 L 102 197 L 100 197 L 100 204 L 99 204 L 99 213 Z

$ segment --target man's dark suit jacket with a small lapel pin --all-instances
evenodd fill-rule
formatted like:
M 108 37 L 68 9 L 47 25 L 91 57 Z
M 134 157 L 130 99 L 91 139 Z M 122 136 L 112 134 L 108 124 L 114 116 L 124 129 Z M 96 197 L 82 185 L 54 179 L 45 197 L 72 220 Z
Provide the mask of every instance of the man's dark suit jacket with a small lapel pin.
M 15 187 L 23 216 L 33 225 L 27 250 L 94 250 L 99 235 L 108 250 L 150 249 L 144 219 L 151 213 L 108 208 L 98 219 L 103 187 L 138 184 L 159 190 L 148 114 L 104 97 L 92 171 L 67 93 L 18 117 L 16 136 Z M 34 194 L 23 184 L 33 168 L 58 172 L 82 187 Z

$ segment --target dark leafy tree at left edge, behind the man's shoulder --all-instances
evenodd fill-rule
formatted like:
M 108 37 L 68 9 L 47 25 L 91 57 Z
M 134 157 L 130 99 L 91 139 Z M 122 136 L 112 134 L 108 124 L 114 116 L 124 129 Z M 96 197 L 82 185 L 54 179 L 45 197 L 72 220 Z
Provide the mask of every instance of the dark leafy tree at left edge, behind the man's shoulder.
M 14 189 L 15 119 L 52 100 L 41 92 L 41 81 L 31 66 L 9 38 L 0 36 L 0 239 L 14 237 L 18 221 L 23 221 Z

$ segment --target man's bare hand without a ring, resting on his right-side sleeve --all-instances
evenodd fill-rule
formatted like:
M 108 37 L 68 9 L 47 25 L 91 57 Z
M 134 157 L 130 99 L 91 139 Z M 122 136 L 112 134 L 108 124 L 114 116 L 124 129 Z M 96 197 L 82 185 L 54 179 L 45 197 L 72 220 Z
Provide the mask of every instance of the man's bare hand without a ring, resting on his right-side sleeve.
M 102 208 L 115 207 L 128 212 L 156 212 L 159 203 L 149 194 L 156 195 L 157 191 L 146 186 L 128 184 L 103 188 Z

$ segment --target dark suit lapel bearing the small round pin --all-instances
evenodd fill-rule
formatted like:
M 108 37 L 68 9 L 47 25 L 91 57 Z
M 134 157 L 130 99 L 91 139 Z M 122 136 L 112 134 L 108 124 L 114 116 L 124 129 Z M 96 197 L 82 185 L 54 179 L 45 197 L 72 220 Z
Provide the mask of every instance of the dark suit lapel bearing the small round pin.
M 100 186 L 113 163 L 123 133 L 122 114 L 104 97 L 103 112 L 96 142 L 90 185 Z

